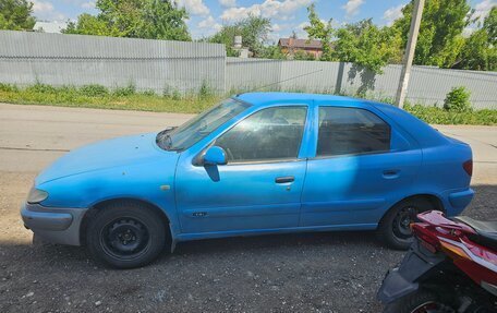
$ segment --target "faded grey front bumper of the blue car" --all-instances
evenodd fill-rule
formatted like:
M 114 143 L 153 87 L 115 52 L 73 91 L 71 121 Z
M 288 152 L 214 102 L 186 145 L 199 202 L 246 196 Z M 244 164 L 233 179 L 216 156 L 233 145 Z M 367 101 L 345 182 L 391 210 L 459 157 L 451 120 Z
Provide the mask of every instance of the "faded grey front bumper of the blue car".
M 87 208 L 46 207 L 25 204 L 21 208 L 24 226 L 43 240 L 81 245 L 80 228 Z

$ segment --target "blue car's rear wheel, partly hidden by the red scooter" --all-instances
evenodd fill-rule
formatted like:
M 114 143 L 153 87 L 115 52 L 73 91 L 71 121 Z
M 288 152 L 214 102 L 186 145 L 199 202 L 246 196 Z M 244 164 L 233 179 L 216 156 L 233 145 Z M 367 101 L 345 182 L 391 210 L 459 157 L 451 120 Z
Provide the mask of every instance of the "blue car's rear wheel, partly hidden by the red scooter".
M 409 224 L 417 220 L 419 213 L 432 209 L 435 209 L 434 204 L 423 197 L 405 200 L 396 204 L 379 222 L 380 239 L 392 249 L 408 250 L 413 241 Z

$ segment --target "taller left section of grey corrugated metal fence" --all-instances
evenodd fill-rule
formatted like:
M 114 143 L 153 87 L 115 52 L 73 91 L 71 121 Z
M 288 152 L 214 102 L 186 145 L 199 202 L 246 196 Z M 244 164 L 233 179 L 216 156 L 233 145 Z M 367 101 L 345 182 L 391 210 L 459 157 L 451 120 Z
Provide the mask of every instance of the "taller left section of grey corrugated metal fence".
M 0 32 L 0 82 L 225 92 L 223 45 Z

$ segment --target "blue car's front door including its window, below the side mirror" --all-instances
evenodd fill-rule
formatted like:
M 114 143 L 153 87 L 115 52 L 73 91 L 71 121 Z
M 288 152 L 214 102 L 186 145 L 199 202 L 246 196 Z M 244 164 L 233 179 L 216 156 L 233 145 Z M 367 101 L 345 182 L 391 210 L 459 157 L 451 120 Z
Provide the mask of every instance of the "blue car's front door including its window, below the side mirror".
M 306 119 L 306 106 L 265 108 L 208 145 L 225 149 L 227 165 L 198 166 L 182 156 L 175 176 L 182 232 L 296 227 L 306 170 L 299 157 Z

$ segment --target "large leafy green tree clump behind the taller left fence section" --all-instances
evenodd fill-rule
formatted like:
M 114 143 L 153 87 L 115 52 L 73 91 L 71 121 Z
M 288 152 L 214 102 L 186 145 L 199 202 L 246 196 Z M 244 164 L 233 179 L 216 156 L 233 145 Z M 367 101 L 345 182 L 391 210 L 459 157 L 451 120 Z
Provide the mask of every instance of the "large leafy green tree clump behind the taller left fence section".
M 97 16 L 82 14 L 65 34 L 191 40 L 183 8 L 171 0 L 97 0 Z

